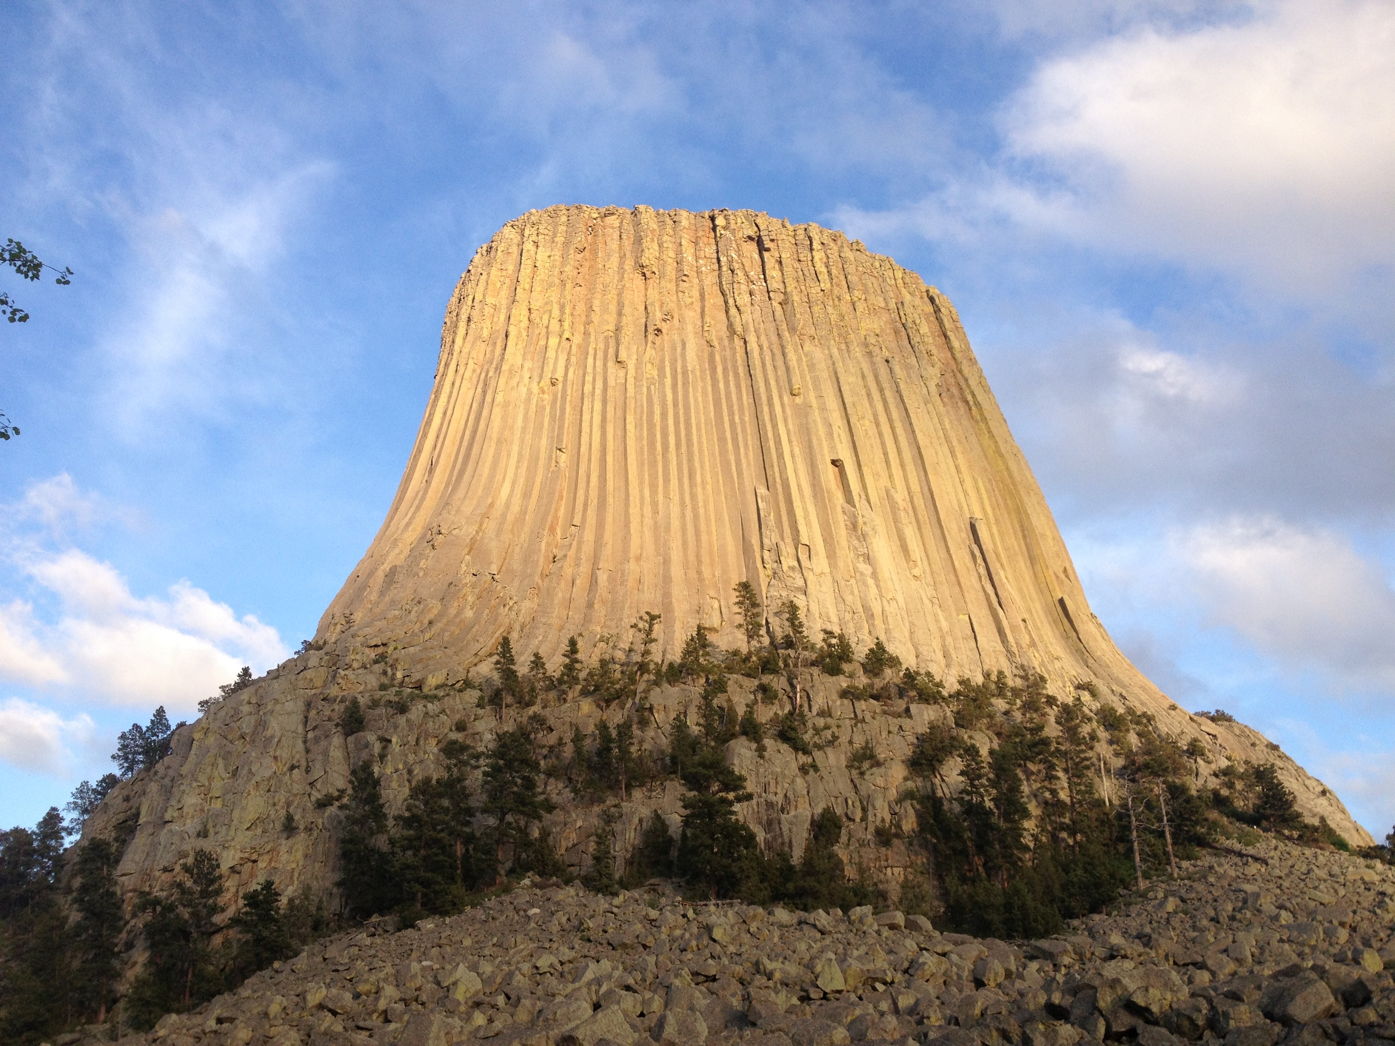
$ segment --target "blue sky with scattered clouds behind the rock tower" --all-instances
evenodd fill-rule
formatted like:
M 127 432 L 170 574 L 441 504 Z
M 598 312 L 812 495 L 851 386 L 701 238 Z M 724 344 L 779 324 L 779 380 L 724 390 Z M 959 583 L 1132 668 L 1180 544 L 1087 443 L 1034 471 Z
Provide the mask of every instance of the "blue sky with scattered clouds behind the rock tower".
M 951 10 L 957 8 L 957 10 Z M 15 3 L 0 823 L 312 633 L 446 298 L 558 202 L 753 208 L 958 305 L 1095 611 L 1395 821 L 1395 8 Z

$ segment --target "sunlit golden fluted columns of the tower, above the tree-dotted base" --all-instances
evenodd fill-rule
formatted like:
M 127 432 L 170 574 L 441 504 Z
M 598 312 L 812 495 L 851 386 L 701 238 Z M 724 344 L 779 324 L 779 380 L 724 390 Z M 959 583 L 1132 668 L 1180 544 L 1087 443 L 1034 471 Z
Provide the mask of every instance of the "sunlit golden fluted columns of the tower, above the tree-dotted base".
M 954 679 L 1165 699 L 1091 615 L 954 307 L 841 233 L 558 206 L 480 248 L 388 519 L 319 626 L 459 669 L 512 635 L 739 640 L 732 586 Z M 583 647 L 585 649 L 585 647 Z

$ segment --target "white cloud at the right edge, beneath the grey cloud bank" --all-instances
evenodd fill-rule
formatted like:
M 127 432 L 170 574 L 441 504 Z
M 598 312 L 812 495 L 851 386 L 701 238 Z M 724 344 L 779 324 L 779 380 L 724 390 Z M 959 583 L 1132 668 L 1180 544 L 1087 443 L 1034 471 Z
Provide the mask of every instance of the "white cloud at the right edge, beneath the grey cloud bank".
M 1236 519 L 1173 536 L 1208 619 L 1338 690 L 1395 689 L 1395 590 L 1343 536 Z

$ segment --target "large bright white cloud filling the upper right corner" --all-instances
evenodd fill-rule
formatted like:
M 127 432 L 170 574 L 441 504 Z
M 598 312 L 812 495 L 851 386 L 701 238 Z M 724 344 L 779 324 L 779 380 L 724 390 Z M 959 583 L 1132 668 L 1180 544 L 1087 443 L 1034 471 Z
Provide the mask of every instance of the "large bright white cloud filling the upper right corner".
M 1046 61 L 1004 114 L 1024 225 L 1306 290 L 1395 261 L 1395 7 L 1286 0 Z M 1039 183 L 1027 183 L 1039 184 Z

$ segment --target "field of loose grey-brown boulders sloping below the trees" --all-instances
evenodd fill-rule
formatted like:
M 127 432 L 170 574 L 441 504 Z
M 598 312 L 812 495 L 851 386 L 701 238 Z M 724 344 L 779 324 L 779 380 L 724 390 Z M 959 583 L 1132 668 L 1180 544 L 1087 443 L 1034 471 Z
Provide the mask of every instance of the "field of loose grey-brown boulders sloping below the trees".
M 311 946 L 127 1043 L 1395 1042 L 1395 869 L 1265 842 L 1038 941 L 526 884 Z M 60 1042 L 74 1040 L 66 1036 Z

